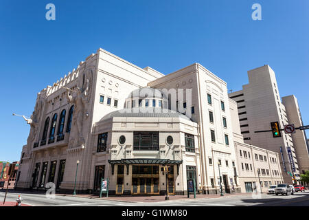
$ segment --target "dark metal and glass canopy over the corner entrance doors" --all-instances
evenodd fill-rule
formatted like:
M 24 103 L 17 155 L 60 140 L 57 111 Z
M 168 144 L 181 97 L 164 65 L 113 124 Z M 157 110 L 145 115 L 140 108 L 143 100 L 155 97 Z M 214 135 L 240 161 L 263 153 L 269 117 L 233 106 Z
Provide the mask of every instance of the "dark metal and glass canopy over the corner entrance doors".
M 179 166 L 183 163 L 182 160 L 171 160 L 171 159 L 149 159 L 149 158 L 134 158 L 134 159 L 119 159 L 119 160 L 109 160 L 108 163 L 112 167 L 112 175 L 114 175 L 115 164 L 126 165 L 126 174 L 128 175 L 128 166 L 130 164 L 152 164 L 152 165 L 177 165 L 177 175 L 179 175 Z

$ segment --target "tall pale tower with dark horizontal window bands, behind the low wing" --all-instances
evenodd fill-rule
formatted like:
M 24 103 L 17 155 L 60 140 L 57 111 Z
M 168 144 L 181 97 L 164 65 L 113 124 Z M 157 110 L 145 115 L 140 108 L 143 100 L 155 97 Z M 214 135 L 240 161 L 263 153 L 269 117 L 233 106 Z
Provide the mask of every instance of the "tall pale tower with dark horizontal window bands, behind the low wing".
M 281 102 L 275 72 L 268 65 L 248 72 L 249 84 L 242 90 L 229 94 L 238 104 L 238 115 L 244 142 L 275 151 L 281 155 L 280 164 L 284 181 L 292 184 L 291 175 L 299 179 L 299 164 L 292 135 L 281 131 L 281 137 L 273 137 L 271 122 L 279 122 L 280 128 L 288 124 L 286 107 Z

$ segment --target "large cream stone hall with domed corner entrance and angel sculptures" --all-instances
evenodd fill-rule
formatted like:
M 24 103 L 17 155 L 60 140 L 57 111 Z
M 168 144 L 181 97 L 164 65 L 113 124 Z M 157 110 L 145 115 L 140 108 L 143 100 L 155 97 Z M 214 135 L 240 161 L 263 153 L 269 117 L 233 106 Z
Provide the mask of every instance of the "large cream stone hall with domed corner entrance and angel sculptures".
M 72 192 L 76 179 L 98 192 L 108 178 L 112 194 L 183 195 L 194 179 L 203 193 L 240 192 L 230 103 L 198 63 L 163 75 L 99 49 L 38 93 L 17 188 Z

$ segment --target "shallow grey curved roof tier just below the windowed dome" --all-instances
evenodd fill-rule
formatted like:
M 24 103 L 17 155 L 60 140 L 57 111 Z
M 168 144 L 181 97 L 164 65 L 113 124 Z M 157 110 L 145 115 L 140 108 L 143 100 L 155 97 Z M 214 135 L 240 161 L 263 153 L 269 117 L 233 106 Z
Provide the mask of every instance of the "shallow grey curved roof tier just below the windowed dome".
M 131 109 L 121 109 L 118 111 L 112 111 L 105 115 L 100 121 L 108 120 L 114 117 L 150 117 L 150 118 L 182 118 L 185 120 L 190 120 L 186 115 L 179 113 L 178 111 L 173 111 L 170 109 L 160 109 L 156 107 L 139 107 Z

